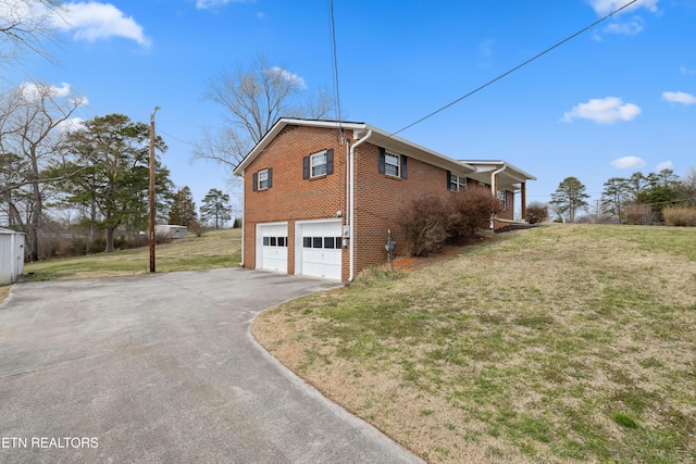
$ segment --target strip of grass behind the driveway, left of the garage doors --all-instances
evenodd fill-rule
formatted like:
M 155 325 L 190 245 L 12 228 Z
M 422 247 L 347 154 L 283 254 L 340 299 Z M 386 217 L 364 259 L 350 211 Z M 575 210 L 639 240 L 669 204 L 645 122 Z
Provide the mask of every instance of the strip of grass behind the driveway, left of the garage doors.
M 234 267 L 241 261 L 241 229 L 192 234 L 154 249 L 158 273 Z M 24 266 L 26 280 L 115 277 L 150 273 L 150 249 L 142 247 L 113 253 L 39 261 Z

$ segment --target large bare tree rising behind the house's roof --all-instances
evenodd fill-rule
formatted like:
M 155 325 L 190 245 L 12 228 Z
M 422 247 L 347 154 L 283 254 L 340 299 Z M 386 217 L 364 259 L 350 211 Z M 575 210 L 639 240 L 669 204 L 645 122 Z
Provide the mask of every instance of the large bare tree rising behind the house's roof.
M 210 79 L 206 98 L 227 112 L 219 133 L 204 129 L 194 156 L 234 170 L 279 117 L 325 117 L 333 110 L 328 95 L 307 89 L 301 77 L 272 66 L 263 54 L 247 67 Z

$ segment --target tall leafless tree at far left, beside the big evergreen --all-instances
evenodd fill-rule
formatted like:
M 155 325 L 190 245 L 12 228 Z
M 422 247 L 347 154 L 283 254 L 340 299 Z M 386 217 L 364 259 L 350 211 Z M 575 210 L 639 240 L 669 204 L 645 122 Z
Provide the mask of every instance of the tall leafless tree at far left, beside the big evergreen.
M 59 145 L 65 135 L 61 126 L 83 102 L 69 87 L 57 88 L 45 83 L 25 83 L 0 97 L 0 164 L 12 160 L 22 167 L 15 172 L 21 178 L 15 178 L 15 184 L 0 186 L 0 190 L 9 191 L 8 198 L 21 187 L 30 192 L 27 203 L 30 208 L 26 208 L 30 214 L 24 227 L 32 261 L 38 260 L 45 187 L 49 180 L 44 178 L 44 168 L 59 155 Z

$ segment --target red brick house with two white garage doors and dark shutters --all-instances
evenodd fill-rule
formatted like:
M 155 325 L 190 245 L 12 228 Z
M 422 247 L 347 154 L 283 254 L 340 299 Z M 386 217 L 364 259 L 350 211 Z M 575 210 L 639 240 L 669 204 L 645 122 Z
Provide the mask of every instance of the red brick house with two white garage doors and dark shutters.
M 495 220 L 526 216 L 536 178 L 505 161 L 457 161 L 364 123 L 281 118 L 235 170 L 243 187 L 243 263 L 350 281 L 386 261 L 387 230 L 403 247 L 399 209 L 424 193 L 489 187 Z

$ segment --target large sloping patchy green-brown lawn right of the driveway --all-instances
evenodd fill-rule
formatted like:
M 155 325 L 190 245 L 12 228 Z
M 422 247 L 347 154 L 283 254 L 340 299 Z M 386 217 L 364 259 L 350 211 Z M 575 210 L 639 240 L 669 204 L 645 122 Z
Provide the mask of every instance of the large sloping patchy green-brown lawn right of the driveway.
M 548 225 L 261 314 L 254 337 L 433 463 L 696 461 L 696 230 Z

